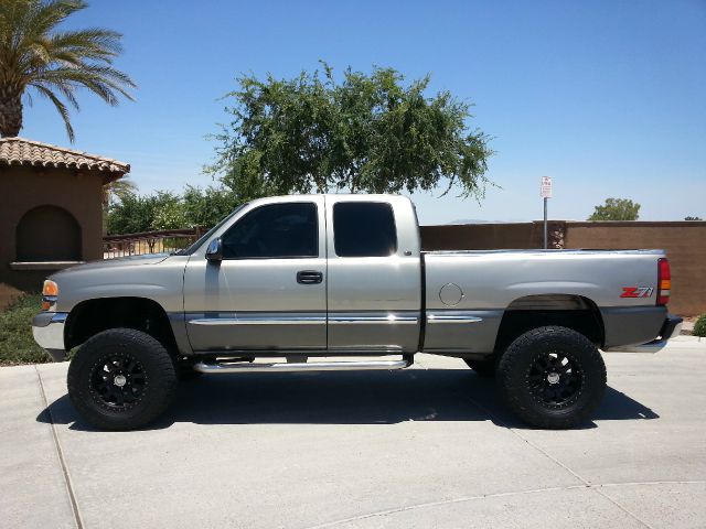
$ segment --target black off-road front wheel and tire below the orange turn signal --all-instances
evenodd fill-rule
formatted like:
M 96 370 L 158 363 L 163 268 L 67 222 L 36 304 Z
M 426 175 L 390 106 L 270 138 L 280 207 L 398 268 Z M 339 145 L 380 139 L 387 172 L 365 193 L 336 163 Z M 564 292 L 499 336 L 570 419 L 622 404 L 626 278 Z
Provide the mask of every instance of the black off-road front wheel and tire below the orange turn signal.
M 156 338 L 132 328 L 111 328 L 86 341 L 68 366 L 66 381 L 78 413 L 101 430 L 133 430 L 153 421 L 176 391 L 170 354 Z

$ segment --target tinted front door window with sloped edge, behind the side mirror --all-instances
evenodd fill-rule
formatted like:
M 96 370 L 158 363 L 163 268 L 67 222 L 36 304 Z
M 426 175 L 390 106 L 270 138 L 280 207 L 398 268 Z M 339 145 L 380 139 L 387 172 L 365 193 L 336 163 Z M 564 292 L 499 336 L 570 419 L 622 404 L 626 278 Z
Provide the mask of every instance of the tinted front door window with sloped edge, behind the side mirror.
M 285 203 L 252 210 L 222 237 L 224 259 L 287 259 L 319 256 L 313 203 Z

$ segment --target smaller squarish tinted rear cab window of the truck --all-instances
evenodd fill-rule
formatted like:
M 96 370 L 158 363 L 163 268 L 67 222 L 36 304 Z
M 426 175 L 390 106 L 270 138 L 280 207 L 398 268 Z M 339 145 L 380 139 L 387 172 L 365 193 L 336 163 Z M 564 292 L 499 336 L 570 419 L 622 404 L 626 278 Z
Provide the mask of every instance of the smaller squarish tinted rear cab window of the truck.
M 389 204 L 339 202 L 333 206 L 333 238 L 340 257 L 387 257 L 397 251 Z

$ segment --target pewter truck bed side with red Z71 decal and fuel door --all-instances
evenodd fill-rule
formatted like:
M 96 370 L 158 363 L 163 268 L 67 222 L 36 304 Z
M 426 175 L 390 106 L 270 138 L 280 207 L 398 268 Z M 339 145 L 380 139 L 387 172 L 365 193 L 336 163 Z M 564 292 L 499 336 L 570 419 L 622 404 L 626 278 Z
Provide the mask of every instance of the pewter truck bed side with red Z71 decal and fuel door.
M 662 250 L 425 251 L 424 350 L 490 354 L 506 311 L 523 310 L 593 311 L 605 348 L 649 342 L 666 316 L 655 304 L 663 257 Z M 641 296 L 624 296 L 632 287 L 644 289 Z

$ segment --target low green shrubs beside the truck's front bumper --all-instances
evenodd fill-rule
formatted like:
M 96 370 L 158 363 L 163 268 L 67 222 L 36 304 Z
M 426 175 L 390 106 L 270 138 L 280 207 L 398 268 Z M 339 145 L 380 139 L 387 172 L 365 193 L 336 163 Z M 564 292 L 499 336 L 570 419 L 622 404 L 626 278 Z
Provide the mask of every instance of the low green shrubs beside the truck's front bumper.
M 41 295 L 25 294 L 0 312 L 0 365 L 52 361 L 32 337 L 32 317 L 41 304 Z

